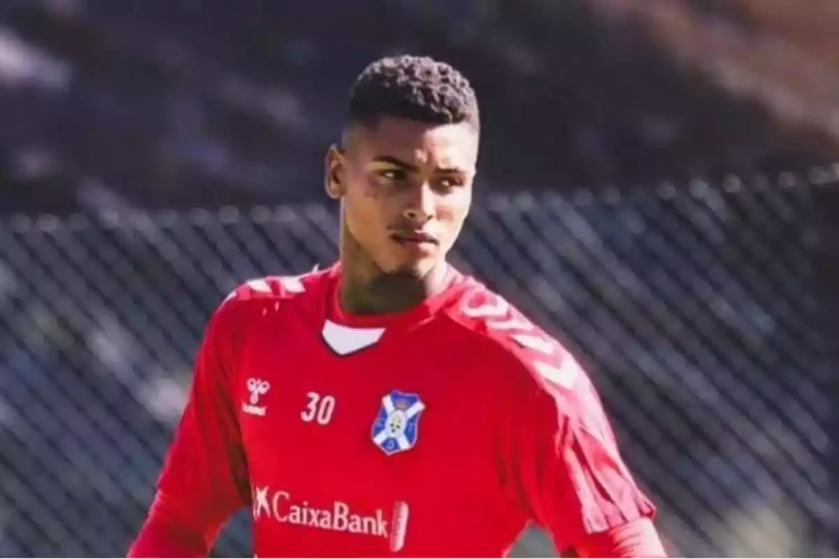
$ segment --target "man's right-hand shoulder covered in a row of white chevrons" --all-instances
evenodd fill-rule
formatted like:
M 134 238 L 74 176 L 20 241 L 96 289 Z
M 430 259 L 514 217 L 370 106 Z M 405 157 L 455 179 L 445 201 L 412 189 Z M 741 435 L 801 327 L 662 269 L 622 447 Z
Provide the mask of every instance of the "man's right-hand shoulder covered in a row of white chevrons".
M 480 345 L 482 359 L 513 379 L 529 377 L 568 390 L 583 375 L 559 340 L 477 280 L 469 282 L 448 314 Z

